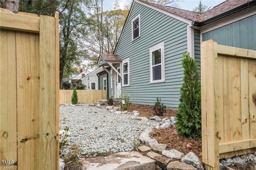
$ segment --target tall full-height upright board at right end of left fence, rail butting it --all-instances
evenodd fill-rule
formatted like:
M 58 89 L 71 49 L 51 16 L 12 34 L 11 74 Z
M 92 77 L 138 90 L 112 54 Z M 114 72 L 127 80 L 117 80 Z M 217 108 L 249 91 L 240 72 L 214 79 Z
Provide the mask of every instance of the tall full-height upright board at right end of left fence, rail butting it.
M 55 19 L 40 15 L 40 170 L 54 170 L 56 156 L 56 41 Z

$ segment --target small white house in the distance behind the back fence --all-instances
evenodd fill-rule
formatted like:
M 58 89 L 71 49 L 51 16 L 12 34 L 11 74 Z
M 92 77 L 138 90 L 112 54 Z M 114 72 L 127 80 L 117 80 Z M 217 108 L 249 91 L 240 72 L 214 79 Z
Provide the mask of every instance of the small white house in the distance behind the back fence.
M 81 81 L 86 85 L 87 90 L 99 90 L 99 77 L 97 74 L 102 70 L 103 69 L 100 67 L 81 78 Z

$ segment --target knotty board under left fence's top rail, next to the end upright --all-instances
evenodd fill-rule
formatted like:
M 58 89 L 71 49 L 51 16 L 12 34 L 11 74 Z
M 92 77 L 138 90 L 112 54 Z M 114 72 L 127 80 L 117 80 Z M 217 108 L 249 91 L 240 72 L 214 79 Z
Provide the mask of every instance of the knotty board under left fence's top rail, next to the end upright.
M 39 35 L 17 31 L 16 46 L 18 169 L 33 170 L 39 166 Z

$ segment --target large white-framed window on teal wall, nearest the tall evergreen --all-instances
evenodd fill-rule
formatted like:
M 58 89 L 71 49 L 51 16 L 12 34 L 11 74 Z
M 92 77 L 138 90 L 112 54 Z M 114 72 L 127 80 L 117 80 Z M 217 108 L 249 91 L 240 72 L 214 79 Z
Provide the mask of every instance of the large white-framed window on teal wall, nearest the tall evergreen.
M 165 81 L 164 43 L 149 48 L 150 83 Z

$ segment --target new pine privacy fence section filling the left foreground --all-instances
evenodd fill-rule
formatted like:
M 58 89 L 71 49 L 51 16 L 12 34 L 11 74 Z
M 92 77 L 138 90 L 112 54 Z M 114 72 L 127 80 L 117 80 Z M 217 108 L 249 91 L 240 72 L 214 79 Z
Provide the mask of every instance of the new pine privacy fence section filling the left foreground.
M 0 9 L 1 169 L 59 169 L 58 22 Z

